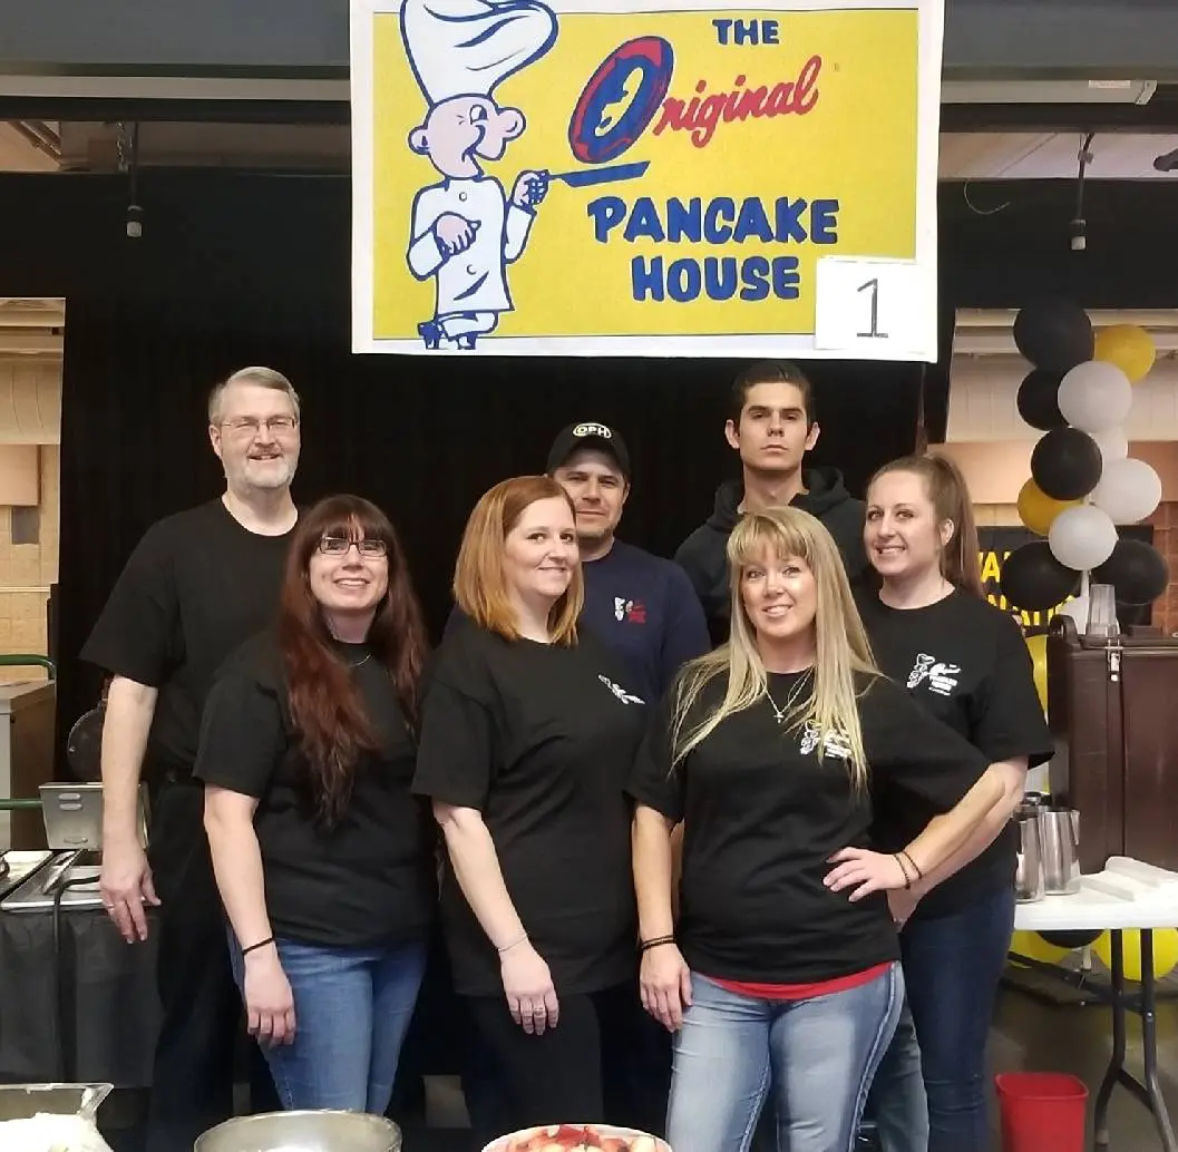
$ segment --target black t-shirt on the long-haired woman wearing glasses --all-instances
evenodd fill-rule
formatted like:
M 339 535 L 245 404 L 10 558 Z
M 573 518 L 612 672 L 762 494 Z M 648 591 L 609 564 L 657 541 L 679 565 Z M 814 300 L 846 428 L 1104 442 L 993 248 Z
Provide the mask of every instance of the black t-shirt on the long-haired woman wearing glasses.
M 340 644 L 380 742 L 362 754 L 351 799 L 330 827 L 316 812 L 277 645 L 246 643 L 218 674 L 205 707 L 194 775 L 258 800 L 266 911 L 278 936 L 331 947 L 424 935 L 437 894 L 436 835 L 410 793 L 415 748 L 392 680 L 362 644 Z

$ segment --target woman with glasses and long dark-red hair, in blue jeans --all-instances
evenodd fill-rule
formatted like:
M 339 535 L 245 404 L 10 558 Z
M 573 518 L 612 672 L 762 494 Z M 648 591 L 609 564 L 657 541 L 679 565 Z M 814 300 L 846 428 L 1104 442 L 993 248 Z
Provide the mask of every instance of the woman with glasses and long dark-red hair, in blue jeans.
M 196 775 L 252 1035 L 287 1108 L 383 1113 L 436 902 L 410 793 L 425 631 L 397 534 L 300 517 L 278 620 L 219 673 Z

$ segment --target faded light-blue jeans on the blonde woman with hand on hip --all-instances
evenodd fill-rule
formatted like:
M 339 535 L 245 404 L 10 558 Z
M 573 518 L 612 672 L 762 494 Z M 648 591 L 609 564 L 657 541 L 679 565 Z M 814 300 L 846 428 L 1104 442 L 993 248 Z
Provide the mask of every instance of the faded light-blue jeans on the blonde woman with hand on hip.
M 852 1152 L 904 1000 L 898 964 L 808 1000 L 754 999 L 699 974 L 691 993 L 667 1111 L 675 1152 L 747 1152 L 770 1087 L 780 1152 Z

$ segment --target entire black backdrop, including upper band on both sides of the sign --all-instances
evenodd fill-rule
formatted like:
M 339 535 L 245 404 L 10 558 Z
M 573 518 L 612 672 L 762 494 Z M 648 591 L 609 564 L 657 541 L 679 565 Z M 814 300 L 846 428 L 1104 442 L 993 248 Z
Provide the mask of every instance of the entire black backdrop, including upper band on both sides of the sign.
M 1077 257 L 1070 183 L 942 186 L 941 364 L 814 362 L 814 462 L 860 492 L 912 450 L 921 408 L 929 439 L 944 437 L 959 306 L 1017 307 L 1045 290 L 1086 306 L 1172 306 L 1178 283 L 1162 253 L 1178 252 L 1173 194 L 1090 185 L 1088 252 Z M 220 490 L 204 402 L 245 364 L 279 368 L 303 395 L 297 498 L 351 490 L 384 507 L 435 630 L 474 501 L 540 470 L 563 424 L 623 430 L 636 476 L 622 534 L 663 555 L 736 475 L 722 437 L 732 360 L 352 356 L 346 180 L 147 173 L 139 203 L 144 237 L 131 241 L 124 179 L 0 177 L 4 294 L 67 298 L 61 734 L 97 700 L 99 674 L 77 653 L 130 550 L 154 519 Z M 585 297 L 591 306 L 591 285 Z

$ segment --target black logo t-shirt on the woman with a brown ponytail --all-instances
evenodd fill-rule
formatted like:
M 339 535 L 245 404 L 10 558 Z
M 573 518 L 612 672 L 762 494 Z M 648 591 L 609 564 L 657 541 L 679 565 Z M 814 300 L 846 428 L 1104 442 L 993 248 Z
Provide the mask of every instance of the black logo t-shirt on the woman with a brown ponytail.
M 889 608 L 866 588 L 856 589 L 856 600 L 880 668 L 988 762 L 1026 756 L 1033 768 L 1051 759 L 1052 739 L 1031 655 L 1007 613 L 962 591 L 926 608 Z M 927 805 L 909 796 L 881 794 L 875 827 L 880 846 L 907 843 L 931 815 Z M 1008 887 L 1015 847 L 1008 827 L 977 860 L 925 896 L 915 914 L 948 915 Z

